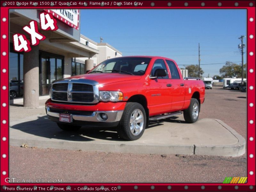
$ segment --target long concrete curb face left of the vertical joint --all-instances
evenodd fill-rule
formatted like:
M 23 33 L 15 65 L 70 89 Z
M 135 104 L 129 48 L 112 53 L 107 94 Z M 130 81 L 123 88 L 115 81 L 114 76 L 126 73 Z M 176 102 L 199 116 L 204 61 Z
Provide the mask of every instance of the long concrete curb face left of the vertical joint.
M 137 154 L 194 154 L 194 145 L 191 146 L 161 146 L 161 145 L 138 145 L 138 144 L 109 144 L 109 143 L 86 143 L 79 141 L 45 141 L 10 138 L 10 145 L 20 147 L 22 143 L 28 147 L 37 148 L 57 148 L 83 151 L 103 151 L 117 153 L 137 153 Z

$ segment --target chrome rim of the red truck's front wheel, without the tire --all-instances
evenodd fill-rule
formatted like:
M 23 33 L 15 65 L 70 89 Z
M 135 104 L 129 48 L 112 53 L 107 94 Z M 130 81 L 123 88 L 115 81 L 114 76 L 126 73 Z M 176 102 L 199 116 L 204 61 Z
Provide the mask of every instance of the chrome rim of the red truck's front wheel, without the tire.
M 140 109 L 135 109 L 130 117 L 130 130 L 133 135 L 139 135 L 143 129 L 144 116 Z

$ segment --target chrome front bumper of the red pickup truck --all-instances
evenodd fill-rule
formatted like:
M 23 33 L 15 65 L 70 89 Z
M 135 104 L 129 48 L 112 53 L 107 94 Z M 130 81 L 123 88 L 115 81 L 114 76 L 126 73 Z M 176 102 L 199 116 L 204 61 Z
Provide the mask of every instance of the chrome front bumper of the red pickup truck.
M 47 116 L 52 116 L 52 117 L 60 117 L 60 113 L 56 112 L 51 112 L 49 107 L 46 108 L 46 114 Z M 107 120 L 103 120 L 100 117 L 100 113 L 105 113 L 108 115 Z M 121 111 L 94 111 L 92 115 L 76 115 L 76 114 L 71 114 L 71 117 L 73 120 L 78 120 L 78 121 L 91 121 L 91 122 L 117 122 L 120 121 L 121 117 L 123 115 L 123 110 Z

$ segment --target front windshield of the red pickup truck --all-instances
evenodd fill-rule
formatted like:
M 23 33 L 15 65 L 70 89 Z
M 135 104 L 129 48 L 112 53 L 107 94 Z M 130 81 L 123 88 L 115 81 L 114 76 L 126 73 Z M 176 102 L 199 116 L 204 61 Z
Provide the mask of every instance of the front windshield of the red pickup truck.
M 144 75 L 151 58 L 118 57 L 100 63 L 89 73 L 123 73 L 127 75 Z

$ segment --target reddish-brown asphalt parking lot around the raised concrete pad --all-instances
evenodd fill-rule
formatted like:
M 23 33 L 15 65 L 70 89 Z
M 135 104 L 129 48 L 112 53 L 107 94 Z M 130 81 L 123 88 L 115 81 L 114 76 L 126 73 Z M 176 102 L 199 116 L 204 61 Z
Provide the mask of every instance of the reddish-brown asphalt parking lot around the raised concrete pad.
M 24 113 L 17 113 L 18 106 L 10 106 L 11 122 L 30 113 L 44 113 L 44 108 L 28 113 L 20 108 Z M 246 138 L 246 93 L 220 87 L 205 90 L 199 118 L 220 119 Z M 246 154 L 222 157 L 11 146 L 9 176 L 62 182 L 223 182 L 225 177 L 246 176 L 246 166 Z

